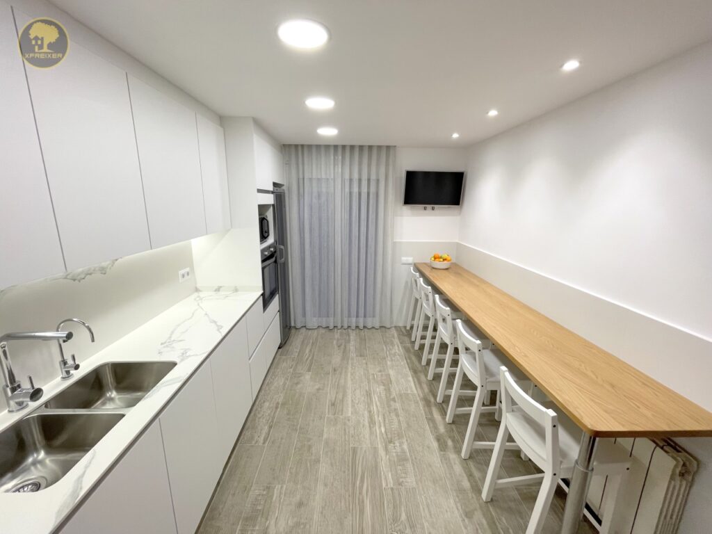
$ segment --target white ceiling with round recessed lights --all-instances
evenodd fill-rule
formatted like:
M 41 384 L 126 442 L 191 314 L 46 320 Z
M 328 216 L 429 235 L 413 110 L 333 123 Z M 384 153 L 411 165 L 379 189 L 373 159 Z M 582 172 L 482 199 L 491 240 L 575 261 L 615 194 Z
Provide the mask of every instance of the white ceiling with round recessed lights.
M 466 146 L 712 38 L 710 0 L 52 1 L 285 143 Z M 324 23 L 330 42 L 283 46 L 290 18 Z M 582 67 L 561 73 L 574 57 Z M 308 110 L 310 95 L 336 107 Z

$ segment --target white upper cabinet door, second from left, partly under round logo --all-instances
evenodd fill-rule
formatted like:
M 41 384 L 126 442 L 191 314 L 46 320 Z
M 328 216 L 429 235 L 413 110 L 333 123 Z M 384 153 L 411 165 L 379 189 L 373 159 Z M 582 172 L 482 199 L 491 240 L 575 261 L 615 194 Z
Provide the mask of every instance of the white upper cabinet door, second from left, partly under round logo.
M 27 79 L 67 269 L 150 250 L 126 73 L 72 43 Z

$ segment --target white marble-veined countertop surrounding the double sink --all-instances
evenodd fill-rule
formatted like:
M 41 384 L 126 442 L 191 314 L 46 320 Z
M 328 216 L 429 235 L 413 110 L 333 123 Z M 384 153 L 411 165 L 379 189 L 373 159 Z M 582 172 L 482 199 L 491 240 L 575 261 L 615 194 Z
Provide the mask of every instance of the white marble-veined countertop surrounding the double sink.
M 259 291 L 199 288 L 197 293 L 84 362 L 69 382 L 56 379 L 47 384 L 43 402 L 106 362 L 177 362 L 60 481 L 37 493 L 0 493 L 1 530 L 23 534 L 53 532 L 260 296 Z M 43 402 L 34 403 L 32 408 L 41 407 Z M 16 414 L 0 414 L 0 431 L 31 413 L 31 409 L 26 409 Z

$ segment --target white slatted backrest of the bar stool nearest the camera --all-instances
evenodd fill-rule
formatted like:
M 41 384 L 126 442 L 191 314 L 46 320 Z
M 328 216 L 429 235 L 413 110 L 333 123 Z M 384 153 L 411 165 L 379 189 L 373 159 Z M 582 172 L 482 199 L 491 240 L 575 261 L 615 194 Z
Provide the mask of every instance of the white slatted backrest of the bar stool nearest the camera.
M 541 404 L 526 394 L 523 389 L 514 381 L 511 373 L 506 367 L 499 368 L 502 384 L 502 423 L 507 424 L 507 428 L 521 449 L 535 460 L 541 468 L 540 462 L 558 469 L 560 466 L 559 449 L 559 422 L 556 412 L 543 407 Z M 516 407 L 516 409 L 515 409 Z M 543 428 L 546 440 L 545 449 L 536 447 L 531 439 L 531 429 L 529 426 L 521 424 L 518 415 L 523 412 L 531 419 L 530 422 Z M 508 416 L 515 415 L 517 417 Z M 556 472 L 556 471 L 554 471 Z

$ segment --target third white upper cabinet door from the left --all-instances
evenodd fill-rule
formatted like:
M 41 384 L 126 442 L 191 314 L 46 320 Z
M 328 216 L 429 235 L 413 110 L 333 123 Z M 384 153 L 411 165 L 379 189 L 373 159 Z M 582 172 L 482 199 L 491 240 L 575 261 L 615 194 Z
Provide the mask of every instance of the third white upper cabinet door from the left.
M 129 75 L 153 248 L 206 234 L 194 112 Z

